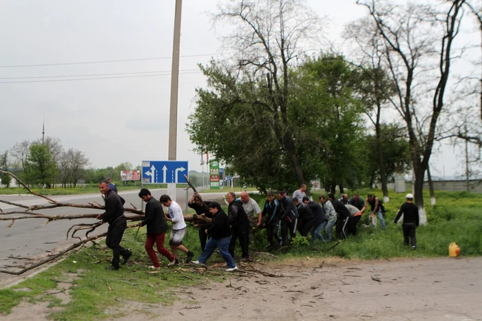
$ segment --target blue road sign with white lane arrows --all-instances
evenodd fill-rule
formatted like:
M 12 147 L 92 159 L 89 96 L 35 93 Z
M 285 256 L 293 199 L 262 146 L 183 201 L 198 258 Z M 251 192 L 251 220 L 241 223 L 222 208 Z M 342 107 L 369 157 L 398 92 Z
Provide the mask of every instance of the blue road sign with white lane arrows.
M 143 183 L 186 184 L 187 161 L 143 161 Z

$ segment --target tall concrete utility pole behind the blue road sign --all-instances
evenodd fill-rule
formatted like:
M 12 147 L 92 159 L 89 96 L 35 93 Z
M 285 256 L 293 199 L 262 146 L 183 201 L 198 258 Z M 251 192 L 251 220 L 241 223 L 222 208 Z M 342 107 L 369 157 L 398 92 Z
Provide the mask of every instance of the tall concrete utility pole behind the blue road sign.
M 179 51 L 180 51 L 180 21 L 182 0 L 176 0 L 176 12 L 174 14 L 174 41 L 172 44 L 172 67 L 171 67 L 171 104 L 169 109 L 169 160 L 177 159 L 178 140 L 178 87 L 179 87 Z M 176 201 L 176 184 L 167 184 L 167 194 Z

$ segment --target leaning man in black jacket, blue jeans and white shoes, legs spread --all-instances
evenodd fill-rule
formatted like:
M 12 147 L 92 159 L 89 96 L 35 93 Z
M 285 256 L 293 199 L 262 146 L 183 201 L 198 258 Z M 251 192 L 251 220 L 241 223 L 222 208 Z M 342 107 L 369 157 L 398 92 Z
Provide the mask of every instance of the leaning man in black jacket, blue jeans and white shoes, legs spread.
M 209 203 L 209 212 L 213 214 L 213 221 L 211 226 L 206 229 L 206 234 L 211 236 L 211 239 L 207 241 L 205 250 L 202 251 L 198 261 L 193 261 L 195 265 L 205 265 L 208 258 L 213 254 L 216 248 L 227 263 L 227 272 L 233 272 L 238 269 L 236 263 L 234 263 L 233 256 L 229 254 L 229 243 L 231 242 L 231 225 L 227 214 L 222 210 L 218 202 Z

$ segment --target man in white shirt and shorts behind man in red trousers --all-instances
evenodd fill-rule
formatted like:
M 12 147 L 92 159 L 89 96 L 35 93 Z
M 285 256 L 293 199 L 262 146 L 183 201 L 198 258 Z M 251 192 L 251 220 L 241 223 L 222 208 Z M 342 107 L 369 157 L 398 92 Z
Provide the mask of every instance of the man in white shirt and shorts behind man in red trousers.
M 176 203 L 169 197 L 169 195 L 162 195 L 159 199 L 163 206 L 167 207 L 167 212 L 169 216 L 166 215 L 166 220 L 172 222 L 171 237 L 169 238 L 169 245 L 171 246 L 171 252 L 176 256 L 174 262 L 169 263 L 167 266 L 178 263 L 178 250 L 187 253 L 186 263 L 191 262 L 194 257 L 193 252 L 187 250 L 187 247 L 182 245 L 182 239 L 186 234 L 186 223 L 184 221 L 184 215 L 182 214 L 182 209 L 179 204 Z

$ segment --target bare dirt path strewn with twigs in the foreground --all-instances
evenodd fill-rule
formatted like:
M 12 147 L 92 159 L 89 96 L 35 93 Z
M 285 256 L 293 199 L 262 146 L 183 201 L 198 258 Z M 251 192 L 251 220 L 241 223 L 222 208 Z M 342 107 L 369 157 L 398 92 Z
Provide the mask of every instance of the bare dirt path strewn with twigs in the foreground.
M 112 312 L 123 313 L 116 320 L 482 320 L 482 258 L 258 267 L 282 277 L 231 274 L 224 283 L 175 289 L 180 300 L 172 306 L 125 302 L 128 309 Z M 48 309 L 34 310 L 45 320 Z M 32 320 L 29 311 L 21 305 L 5 320 Z

